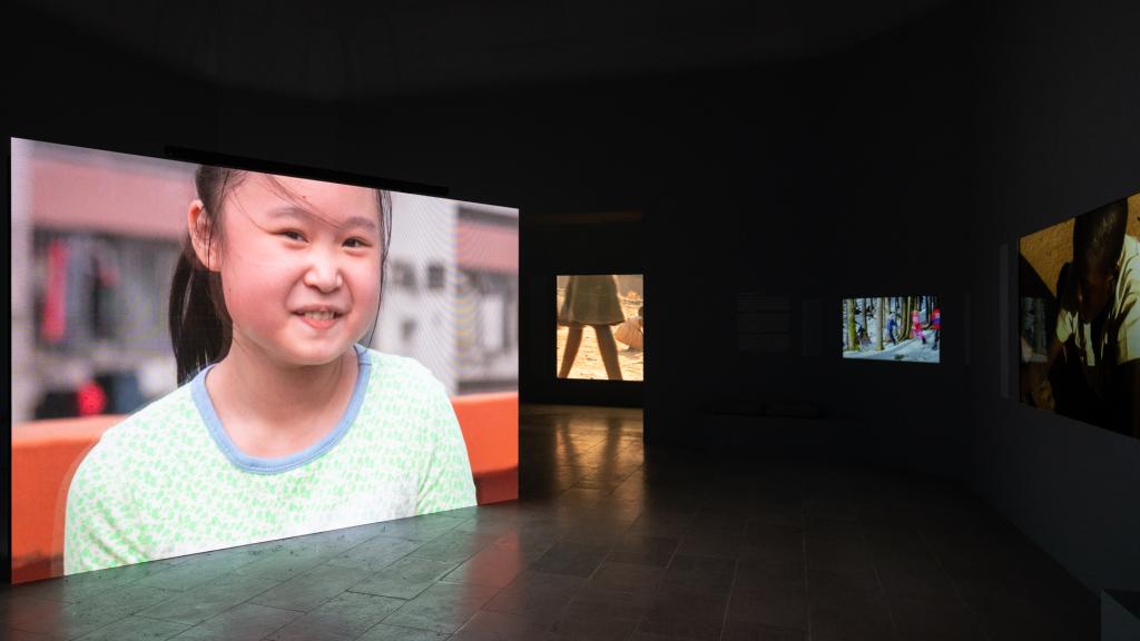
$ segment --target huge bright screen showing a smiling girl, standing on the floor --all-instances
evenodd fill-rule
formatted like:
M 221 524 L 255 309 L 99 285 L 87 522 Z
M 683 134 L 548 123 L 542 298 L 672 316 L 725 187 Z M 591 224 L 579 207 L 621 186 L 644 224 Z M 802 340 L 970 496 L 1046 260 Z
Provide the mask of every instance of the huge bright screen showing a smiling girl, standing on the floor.
M 516 209 L 10 143 L 14 583 L 518 498 Z

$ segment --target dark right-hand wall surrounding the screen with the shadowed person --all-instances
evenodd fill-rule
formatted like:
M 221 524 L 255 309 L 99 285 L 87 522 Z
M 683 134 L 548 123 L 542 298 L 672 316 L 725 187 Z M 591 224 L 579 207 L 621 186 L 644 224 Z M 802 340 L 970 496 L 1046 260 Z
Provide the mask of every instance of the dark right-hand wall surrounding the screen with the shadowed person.
M 969 266 L 975 488 L 1091 590 L 1140 590 L 1140 440 L 1017 401 L 1016 263 L 1000 248 L 1140 192 L 1140 5 L 1013 2 L 979 14 Z M 1005 332 L 1002 352 L 1002 332 Z

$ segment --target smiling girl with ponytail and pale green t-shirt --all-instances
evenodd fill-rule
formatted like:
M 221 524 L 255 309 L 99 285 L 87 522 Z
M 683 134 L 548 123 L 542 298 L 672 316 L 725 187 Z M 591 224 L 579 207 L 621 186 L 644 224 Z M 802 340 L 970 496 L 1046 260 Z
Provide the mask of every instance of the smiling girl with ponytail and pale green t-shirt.
M 179 387 L 107 430 L 67 496 L 67 574 L 475 504 L 443 386 L 357 344 L 386 193 L 201 167 L 174 273 Z

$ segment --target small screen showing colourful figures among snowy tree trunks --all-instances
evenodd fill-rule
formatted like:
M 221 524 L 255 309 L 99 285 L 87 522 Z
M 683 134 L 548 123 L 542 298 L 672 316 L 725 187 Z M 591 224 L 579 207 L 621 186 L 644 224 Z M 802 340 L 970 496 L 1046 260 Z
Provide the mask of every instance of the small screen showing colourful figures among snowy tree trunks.
M 938 297 L 844 299 L 844 358 L 938 363 L 942 310 Z

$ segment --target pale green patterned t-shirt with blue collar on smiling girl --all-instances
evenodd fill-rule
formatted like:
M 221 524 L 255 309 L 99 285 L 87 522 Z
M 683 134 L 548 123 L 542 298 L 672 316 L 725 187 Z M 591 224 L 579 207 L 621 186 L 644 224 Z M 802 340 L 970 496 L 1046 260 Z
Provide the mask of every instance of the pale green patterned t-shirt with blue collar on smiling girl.
M 66 574 L 475 504 L 443 386 L 410 358 L 356 346 L 341 421 L 282 459 L 222 429 L 205 375 L 104 432 L 67 493 Z

